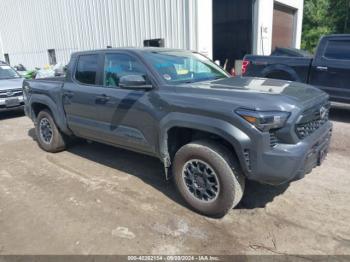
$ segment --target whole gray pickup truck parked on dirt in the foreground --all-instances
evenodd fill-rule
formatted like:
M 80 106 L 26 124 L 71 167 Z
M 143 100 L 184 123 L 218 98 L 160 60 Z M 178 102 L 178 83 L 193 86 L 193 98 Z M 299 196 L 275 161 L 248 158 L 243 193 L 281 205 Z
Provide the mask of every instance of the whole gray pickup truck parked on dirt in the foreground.
M 23 90 L 42 149 L 59 152 L 75 136 L 159 158 L 189 206 L 212 217 L 240 202 L 246 179 L 302 178 L 332 133 L 323 91 L 232 78 L 190 51 L 78 52 L 66 78 L 27 80 Z

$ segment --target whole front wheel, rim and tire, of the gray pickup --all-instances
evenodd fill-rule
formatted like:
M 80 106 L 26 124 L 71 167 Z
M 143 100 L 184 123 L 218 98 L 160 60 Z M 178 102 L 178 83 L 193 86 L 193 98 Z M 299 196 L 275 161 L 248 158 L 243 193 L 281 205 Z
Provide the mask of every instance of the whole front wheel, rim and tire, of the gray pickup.
M 175 184 L 197 212 L 223 217 L 242 199 L 245 180 L 238 161 L 225 147 L 212 141 L 197 141 L 176 153 Z

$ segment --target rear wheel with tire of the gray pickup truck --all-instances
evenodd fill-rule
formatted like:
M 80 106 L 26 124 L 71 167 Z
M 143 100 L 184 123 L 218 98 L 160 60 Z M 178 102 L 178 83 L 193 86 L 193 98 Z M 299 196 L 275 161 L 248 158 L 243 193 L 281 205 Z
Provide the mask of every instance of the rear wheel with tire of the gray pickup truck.
M 56 153 L 66 148 L 67 138 L 58 129 L 49 110 L 38 114 L 35 133 L 39 146 L 47 152 Z

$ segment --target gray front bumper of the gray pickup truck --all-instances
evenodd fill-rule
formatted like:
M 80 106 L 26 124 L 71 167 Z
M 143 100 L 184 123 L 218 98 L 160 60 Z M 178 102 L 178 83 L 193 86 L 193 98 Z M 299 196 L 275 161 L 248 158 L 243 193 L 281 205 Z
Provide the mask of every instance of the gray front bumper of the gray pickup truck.
M 303 178 L 320 165 L 330 145 L 332 123 L 327 122 L 312 135 L 295 145 L 278 144 L 251 160 L 248 178 L 278 185 Z

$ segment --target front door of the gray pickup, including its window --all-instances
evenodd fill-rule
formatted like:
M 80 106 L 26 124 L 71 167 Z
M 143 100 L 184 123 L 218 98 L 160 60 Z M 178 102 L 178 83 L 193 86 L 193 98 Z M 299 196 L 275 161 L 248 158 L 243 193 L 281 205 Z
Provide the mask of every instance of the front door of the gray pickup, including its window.
M 150 74 L 136 57 L 126 53 L 105 54 L 101 88 L 108 101 L 96 105 L 101 136 L 107 143 L 154 154 L 157 144 L 151 103 L 154 91 L 119 87 L 120 77 L 136 74 L 149 81 Z

